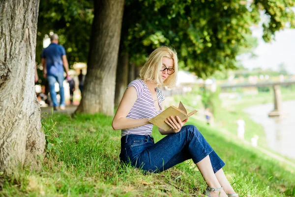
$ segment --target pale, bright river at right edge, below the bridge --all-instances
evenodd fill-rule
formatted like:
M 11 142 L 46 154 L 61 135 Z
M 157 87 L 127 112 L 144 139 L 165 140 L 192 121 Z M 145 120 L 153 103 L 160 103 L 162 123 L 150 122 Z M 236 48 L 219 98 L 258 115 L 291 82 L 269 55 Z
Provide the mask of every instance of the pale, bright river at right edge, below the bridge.
M 295 100 L 282 102 L 281 117 L 269 118 L 273 103 L 247 108 L 245 111 L 255 122 L 263 125 L 269 148 L 283 156 L 295 159 Z

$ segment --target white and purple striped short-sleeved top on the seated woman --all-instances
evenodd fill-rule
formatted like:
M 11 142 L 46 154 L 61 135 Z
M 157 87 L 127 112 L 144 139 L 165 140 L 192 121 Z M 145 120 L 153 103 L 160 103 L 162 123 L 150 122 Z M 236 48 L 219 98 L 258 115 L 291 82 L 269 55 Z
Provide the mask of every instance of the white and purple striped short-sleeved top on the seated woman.
M 162 101 L 165 99 L 164 93 L 162 90 L 156 87 L 156 93 L 158 102 L 160 105 L 160 110 L 156 111 L 153 98 L 148 90 L 148 85 L 144 82 L 143 79 L 136 79 L 131 81 L 127 86 L 129 88 L 133 86 L 136 90 L 137 100 L 134 102 L 131 110 L 129 111 L 126 118 L 130 119 L 141 119 L 141 118 L 153 118 L 159 113 L 162 112 Z M 127 89 L 126 88 L 126 89 Z M 137 135 L 150 135 L 152 131 L 152 124 L 126 129 L 121 131 L 121 136 L 127 134 L 137 134 Z

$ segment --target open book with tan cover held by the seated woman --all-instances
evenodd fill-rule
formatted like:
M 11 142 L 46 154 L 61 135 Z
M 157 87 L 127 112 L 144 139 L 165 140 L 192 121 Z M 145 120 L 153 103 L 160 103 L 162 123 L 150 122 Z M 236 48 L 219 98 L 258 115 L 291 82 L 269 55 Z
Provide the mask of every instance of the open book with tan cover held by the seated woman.
M 168 117 L 173 116 L 175 118 L 176 116 L 178 116 L 181 121 L 184 121 L 196 112 L 197 110 L 187 113 L 183 104 L 179 102 L 178 108 L 176 106 L 171 105 L 170 107 L 162 111 L 160 114 L 155 116 L 153 119 L 151 119 L 149 122 L 157 126 L 158 128 L 161 128 L 164 131 L 168 131 L 171 127 L 164 122 L 165 120 L 167 120 Z

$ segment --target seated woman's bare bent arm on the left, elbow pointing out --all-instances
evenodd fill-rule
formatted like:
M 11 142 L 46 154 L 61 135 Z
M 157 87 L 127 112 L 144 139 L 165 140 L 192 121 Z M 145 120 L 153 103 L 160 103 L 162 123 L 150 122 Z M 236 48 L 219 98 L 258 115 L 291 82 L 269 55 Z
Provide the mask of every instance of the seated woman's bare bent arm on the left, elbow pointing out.
M 151 118 L 130 119 L 126 118 L 137 99 L 137 93 L 133 86 L 125 91 L 123 98 L 118 106 L 118 110 L 114 116 L 112 127 L 114 130 L 132 129 L 149 124 Z

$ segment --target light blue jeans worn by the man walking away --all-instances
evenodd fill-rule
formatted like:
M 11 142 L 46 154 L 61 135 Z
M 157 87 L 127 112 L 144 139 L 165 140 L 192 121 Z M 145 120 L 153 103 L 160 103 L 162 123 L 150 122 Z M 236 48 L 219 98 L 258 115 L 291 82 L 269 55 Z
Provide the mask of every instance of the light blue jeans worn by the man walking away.
M 63 90 L 63 73 L 58 73 L 56 75 L 48 75 L 47 76 L 48 83 L 49 83 L 49 92 L 50 92 L 50 97 L 53 103 L 54 107 L 57 106 L 65 106 L 65 101 L 64 101 L 64 90 Z M 60 96 L 60 102 L 58 103 L 57 99 L 57 93 L 54 89 L 54 84 L 58 82 L 59 83 L 59 96 Z

